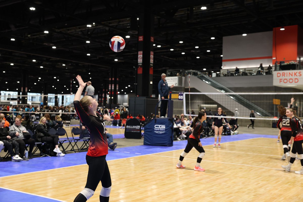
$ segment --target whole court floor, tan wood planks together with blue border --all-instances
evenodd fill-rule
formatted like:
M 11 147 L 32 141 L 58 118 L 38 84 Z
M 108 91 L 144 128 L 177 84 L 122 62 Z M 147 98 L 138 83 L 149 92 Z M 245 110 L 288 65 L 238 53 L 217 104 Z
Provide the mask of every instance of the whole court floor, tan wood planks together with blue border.
M 122 131 L 108 130 L 114 138 Z M 175 167 L 187 141 L 153 147 L 143 145 L 143 139 L 114 140 L 118 147 L 107 155 L 111 202 L 303 201 L 303 175 L 294 173 L 301 169 L 300 161 L 291 172 L 284 171 L 281 165 L 287 162 L 280 160 L 282 144 L 274 135 L 223 136 L 221 148 L 212 147 L 213 137 L 201 139 L 205 172 L 193 170 L 198 156 L 194 148 L 183 161 L 186 168 Z M 119 147 L 120 142 L 125 145 Z M 0 162 L 0 201 L 73 201 L 85 186 L 85 154 Z M 101 183 L 88 201 L 99 201 L 100 190 Z

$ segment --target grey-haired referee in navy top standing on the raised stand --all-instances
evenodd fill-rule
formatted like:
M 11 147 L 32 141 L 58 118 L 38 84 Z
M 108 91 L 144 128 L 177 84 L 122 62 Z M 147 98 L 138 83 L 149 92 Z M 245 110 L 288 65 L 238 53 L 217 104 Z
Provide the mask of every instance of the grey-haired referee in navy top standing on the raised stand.
M 158 91 L 161 97 L 161 106 L 160 106 L 160 117 L 165 117 L 166 110 L 167 110 L 167 100 L 168 99 L 168 93 L 171 88 L 174 87 L 174 85 L 171 85 L 171 87 L 168 87 L 168 84 L 165 80 L 166 75 L 163 73 L 161 74 L 161 81 L 159 81 L 158 84 Z

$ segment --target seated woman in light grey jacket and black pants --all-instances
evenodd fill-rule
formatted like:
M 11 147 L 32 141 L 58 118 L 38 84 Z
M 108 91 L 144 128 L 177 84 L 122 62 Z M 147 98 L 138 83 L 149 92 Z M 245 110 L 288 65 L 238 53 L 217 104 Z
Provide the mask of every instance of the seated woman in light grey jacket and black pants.
M 29 132 L 26 130 L 24 126 L 22 126 L 21 119 L 22 119 L 21 116 L 17 116 L 15 118 L 15 123 L 11 126 L 8 133 L 13 140 L 18 142 L 20 157 L 23 159 L 23 161 L 28 161 L 28 158 L 25 157 L 25 144 L 29 144 L 28 157 L 29 159 L 32 159 L 33 158 L 32 151 L 35 146 L 35 140 L 31 138 Z

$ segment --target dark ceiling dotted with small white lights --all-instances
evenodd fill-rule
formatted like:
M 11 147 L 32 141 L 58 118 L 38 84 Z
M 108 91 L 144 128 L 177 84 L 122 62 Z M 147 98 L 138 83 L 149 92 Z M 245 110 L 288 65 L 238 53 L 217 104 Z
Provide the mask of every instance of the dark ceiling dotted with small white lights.
M 1 91 L 20 91 L 24 72 L 30 92 L 41 93 L 47 85 L 48 93 L 68 94 L 77 74 L 100 91 L 111 68 L 118 68 L 119 89 L 134 91 L 138 36 L 132 32 L 136 30 L 131 18 L 137 19 L 148 1 L 0 0 Z M 153 94 L 167 69 L 221 69 L 223 36 L 303 24 L 302 0 L 154 0 L 151 4 L 156 45 Z M 126 41 L 119 53 L 109 48 L 115 35 Z M 73 92 L 76 84 L 72 83 Z

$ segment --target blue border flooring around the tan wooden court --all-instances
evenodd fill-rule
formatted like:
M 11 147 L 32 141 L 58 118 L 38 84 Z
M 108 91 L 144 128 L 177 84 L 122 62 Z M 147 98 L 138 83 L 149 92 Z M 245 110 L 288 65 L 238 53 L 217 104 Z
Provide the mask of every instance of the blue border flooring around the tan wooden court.
M 274 135 L 241 134 L 241 135 L 223 136 L 221 143 L 247 140 L 247 139 L 259 138 L 259 137 L 276 138 L 276 136 Z M 209 138 L 201 139 L 201 143 L 202 145 L 212 145 L 214 144 L 214 138 L 209 137 Z M 146 145 L 122 147 L 122 148 L 117 147 L 115 151 L 108 150 L 108 155 L 106 157 L 106 160 L 110 161 L 115 159 L 122 159 L 122 158 L 135 157 L 135 156 L 141 156 L 146 154 L 154 154 L 159 152 L 184 149 L 186 144 L 187 141 L 185 140 L 185 141 L 174 141 L 174 146 L 172 147 L 146 146 Z M 85 156 L 86 156 L 86 152 L 80 152 L 80 153 L 66 154 L 65 157 L 42 157 L 42 158 L 33 158 L 30 161 L 22 161 L 22 162 L 12 162 L 12 161 L 0 162 L 2 168 L 0 170 L 0 177 L 86 164 Z M 41 197 L 39 196 L 34 196 L 31 194 L 26 194 L 26 193 L 21 193 L 21 192 L 1 189 L 1 188 L 0 188 L 0 196 L 1 196 L 0 201 L 12 201 L 12 202 L 14 201 L 27 202 L 27 201 L 35 201 L 35 200 L 47 201 L 47 202 L 58 201 L 48 198 L 41 199 Z M 7 199 L 3 198 L 3 196 L 7 197 Z

